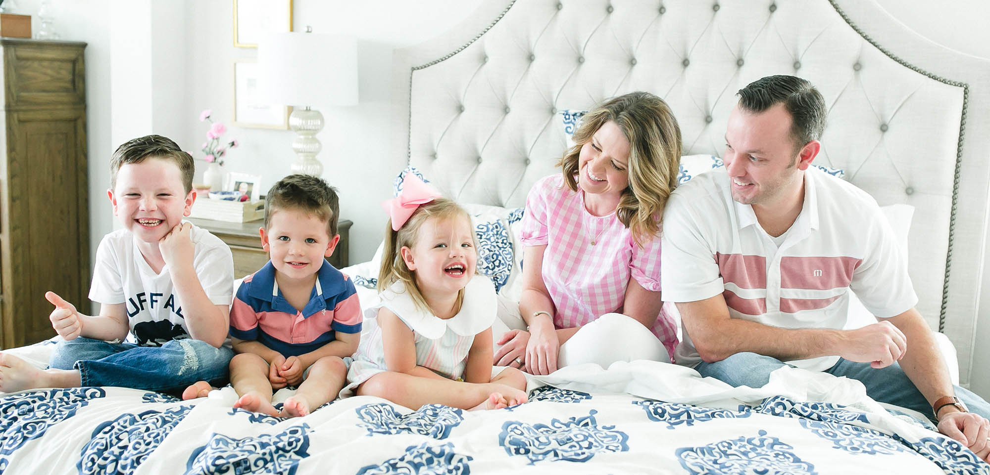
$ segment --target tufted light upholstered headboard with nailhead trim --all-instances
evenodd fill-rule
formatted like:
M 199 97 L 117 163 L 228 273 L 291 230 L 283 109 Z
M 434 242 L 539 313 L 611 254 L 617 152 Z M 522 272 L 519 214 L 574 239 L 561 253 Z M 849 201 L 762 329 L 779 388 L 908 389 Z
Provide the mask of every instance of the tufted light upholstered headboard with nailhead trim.
M 560 109 L 663 97 L 684 153 L 721 155 L 736 91 L 812 81 L 830 106 L 817 163 L 916 208 L 910 272 L 968 382 L 983 277 L 990 61 L 939 47 L 869 0 L 488 0 L 397 51 L 394 150 L 463 202 L 522 206 L 554 171 Z M 397 170 L 389 170 L 397 171 Z

